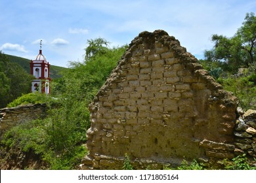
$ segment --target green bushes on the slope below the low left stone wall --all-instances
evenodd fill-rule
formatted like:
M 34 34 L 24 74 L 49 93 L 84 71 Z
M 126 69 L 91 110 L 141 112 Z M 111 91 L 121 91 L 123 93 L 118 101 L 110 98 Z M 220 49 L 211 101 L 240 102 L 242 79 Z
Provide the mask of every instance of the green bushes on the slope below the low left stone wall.
M 24 122 L 7 131 L 1 145 L 9 148 L 16 146 L 21 148 L 22 152 L 32 150 L 47 162 L 49 169 L 74 169 L 85 155 L 86 149 L 81 144 L 72 144 L 73 135 L 64 131 L 69 127 L 66 124 L 64 129 L 53 128 L 53 122 L 49 118 Z M 61 137 L 63 139 L 59 139 Z M 58 144 L 55 144 L 56 142 Z

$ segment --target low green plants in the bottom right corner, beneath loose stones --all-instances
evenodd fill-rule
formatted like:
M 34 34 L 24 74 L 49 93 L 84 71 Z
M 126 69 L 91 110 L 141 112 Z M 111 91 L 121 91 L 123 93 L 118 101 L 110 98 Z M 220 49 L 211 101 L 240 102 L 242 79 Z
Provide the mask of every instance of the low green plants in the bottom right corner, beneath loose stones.
M 256 170 L 255 166 L 249 164 L 245 154 L 236 156 L 232 161 L 223 159 L 223 165 L 227 170 Z

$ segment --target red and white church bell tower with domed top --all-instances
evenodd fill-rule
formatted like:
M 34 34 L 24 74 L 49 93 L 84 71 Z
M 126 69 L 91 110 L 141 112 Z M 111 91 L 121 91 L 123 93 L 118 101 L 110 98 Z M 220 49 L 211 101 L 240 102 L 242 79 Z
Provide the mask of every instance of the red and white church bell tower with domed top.
M 30 62 L 30 73 L 34 76 L 32 80 L 32 92 L 50 93 L 50 64 L 42 54 L 42 40 L 40 41 L 39 54 Z

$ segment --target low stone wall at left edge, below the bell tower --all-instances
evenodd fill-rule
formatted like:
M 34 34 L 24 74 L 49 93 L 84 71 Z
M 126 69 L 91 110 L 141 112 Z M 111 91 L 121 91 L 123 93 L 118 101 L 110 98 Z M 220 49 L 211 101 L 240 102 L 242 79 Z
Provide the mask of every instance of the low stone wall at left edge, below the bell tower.
M 14 125 L 43 118 L 46 115 L 46 104 L 28 104 L 18 107 L 0 109 L 0 134 Z

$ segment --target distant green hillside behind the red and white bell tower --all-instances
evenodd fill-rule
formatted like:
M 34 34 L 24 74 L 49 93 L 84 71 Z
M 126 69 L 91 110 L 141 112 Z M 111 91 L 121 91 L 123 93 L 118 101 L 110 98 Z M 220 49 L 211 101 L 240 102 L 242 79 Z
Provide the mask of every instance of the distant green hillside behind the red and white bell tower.
M 30 59 L 20 58 L 20 57 L 11 56 L 11 55 L 7 55 L 7 56 L 11 62 L 18 63 L 23 69 L 25 69 L 25 71 L 27 73 L 30 74 L 30 61 L 31 61 Z M 50 67 L 51 78 L 53 78 L 53 79 L 60 78 L 62 76 L 61 73 L 64 72 L 66 69 L 68 69 L 68 68 L 51 65 L 51 67 Z

